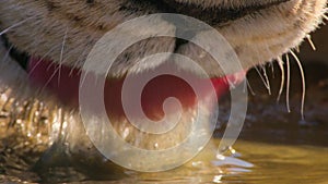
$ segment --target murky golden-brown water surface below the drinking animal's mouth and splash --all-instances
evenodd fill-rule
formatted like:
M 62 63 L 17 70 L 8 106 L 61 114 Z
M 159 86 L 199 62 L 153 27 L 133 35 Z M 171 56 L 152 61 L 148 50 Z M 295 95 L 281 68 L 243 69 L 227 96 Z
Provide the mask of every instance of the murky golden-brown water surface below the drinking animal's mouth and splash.
M 227 157 L 225 160 L 219 160 L 212 157 L 212 151 L 204 152 L 194 162 L 168 172 L 126 171 L 115 180 L 87 179 L 79 175 L 67 177 L 63 174 L 62 179 L 57 180 L 71 180 L 73 183 L 78 183 L 77 180 L 82 180 L 79 181 L 82 183 L 328 183 L 327 147 L 239 140 L 235 148 L 241 152 L 236 154 L 236 158 Z M 1 168 L 1 183 L 24 181 L 28 183 L 34 177 L 34 174 L 28 172 L 21 172 L 20 177 L 10 176 L 5 175 L 3 170 L 14 168 Z M 57 172 L 56 176 L 60 176 L 60 170 L 54 172 Z M 105 179 L 106 181 L 102 181 Z

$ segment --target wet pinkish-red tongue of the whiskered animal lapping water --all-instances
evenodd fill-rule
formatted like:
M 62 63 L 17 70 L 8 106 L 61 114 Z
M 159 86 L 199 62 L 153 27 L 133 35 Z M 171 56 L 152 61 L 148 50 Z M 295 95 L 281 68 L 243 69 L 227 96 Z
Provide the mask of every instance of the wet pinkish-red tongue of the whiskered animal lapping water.
M 78 69 L 65 65 L 59 68 L 50 61 L 32 58 L 27 72 L 32 83 L 55 93 L 63 103 L 79 105 L 81 73 Z M 227 81 L 236 85 L 245 78 L 245 71 L 242 71 L 224 77 L 211 78 L 216 97 L 220 98 L 230 90 Z M 204 81 L 204 78 L 197 78 L 196 76 L 195 78 L 199 83 Z M 120 100 L 124 81 L 124 77 L 108 78 L 104 87 L 106 110 L 116 118 L 125 115 Z M 183 108 L 191 108 L 197 102 L 196 94 L 187 82 L 173 75 L 161 75 L 151 79 L 143 88 L 141 107 L 144 113 L 152 120 L 163 118 L 163 102 L 168 97 L 176 97 Z

